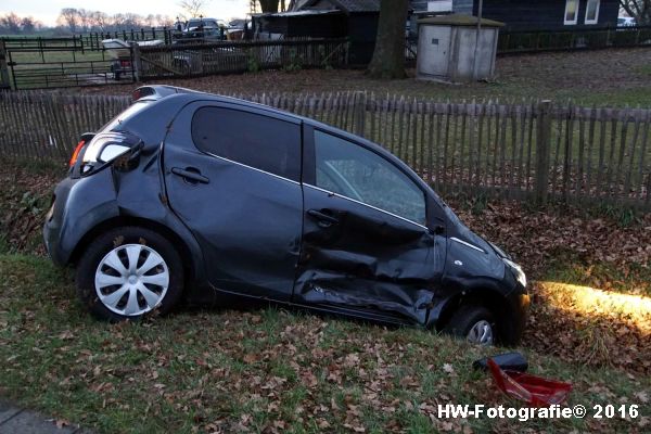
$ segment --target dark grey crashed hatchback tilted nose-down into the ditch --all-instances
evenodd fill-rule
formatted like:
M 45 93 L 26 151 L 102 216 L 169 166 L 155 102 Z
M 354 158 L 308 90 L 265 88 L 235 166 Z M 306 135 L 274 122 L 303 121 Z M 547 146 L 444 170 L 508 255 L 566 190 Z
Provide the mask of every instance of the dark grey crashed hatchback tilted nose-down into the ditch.
M 86 133 L 44 224 L 103 319 L 275 302 L 514 344 L 524 272 L 362 138 L 166 86 Z

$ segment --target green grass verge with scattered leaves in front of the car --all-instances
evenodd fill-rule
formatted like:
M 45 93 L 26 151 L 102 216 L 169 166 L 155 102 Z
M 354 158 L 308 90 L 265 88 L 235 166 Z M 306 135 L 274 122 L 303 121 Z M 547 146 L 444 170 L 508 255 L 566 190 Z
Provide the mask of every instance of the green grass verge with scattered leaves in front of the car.
M 417 329 L 290 314 L 180 312 L 107 324 L 75 301 L 71 272 L 0 255 L 0 395 L 99 432 L 633 432 L 623 420 L 442 421 L 437 404 L 516 406 L 472 361 L 496 349 Z M 640 404 L 648 376 L 522 348 L 533 372 L 571 381 L 570 405 Z M 444 369 L 444 366 L 450 366 Z

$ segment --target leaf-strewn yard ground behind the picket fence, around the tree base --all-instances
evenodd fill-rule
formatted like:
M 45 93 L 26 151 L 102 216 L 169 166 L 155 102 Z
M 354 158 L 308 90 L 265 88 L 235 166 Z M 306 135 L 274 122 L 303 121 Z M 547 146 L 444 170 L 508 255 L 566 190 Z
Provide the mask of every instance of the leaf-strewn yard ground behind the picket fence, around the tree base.
M 499 58 L 490 82 L 455 86 L 414 79 L 370 79 L 363 71 L 267 71 L 191 79 L 154 80 L 215 93 L 367 90 L 442 99 L 572 99 L 585 104 L 651 105 L 651 48 Z M 135 84 L 89 87 L 87 93 L 124 94 Z M 77 91 L 77 90 L 75 90 Z

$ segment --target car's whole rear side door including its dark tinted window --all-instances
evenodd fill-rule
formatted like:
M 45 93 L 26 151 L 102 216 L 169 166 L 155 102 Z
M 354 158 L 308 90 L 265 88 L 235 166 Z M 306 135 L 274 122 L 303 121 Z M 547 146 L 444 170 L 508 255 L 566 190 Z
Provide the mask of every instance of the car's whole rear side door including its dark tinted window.
M 193 103 L 165 139 L 170 207 L 224 292 L 289 302 L 303 227 L 301 122 L 229 104 Z

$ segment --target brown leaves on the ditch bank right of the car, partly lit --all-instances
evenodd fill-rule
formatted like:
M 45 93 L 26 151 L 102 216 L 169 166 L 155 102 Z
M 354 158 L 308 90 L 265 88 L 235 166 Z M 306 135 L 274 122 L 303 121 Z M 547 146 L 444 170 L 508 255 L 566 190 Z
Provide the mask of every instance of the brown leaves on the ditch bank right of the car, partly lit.
M 478 216 L 459 214 L 470 228 L 512 254 L 534 279 L 542 279 L 559 256 L 569 255 L 585 264 L 608 263 L 624 272 L 634 265 L 649 267 L 651 214 L 630 227 L 586 218 L 576 209 L 528 212 L 509 203 L 489 205 Z M 649 302 L 648 295 L 636 294 L 636 289 L 628 291 L 633 295 L 609 291 L 608 281 L 592 284 L 595 289 L 534 282 L 522 344 L 571 362 L 651 372 L 651 312 L 631 307 Z

